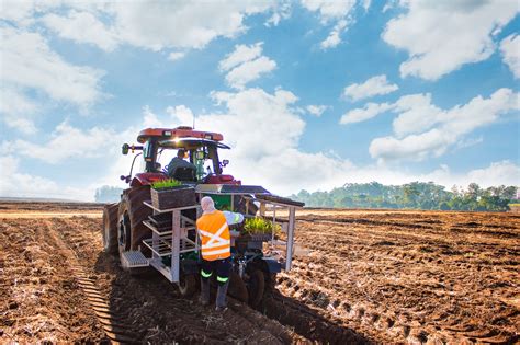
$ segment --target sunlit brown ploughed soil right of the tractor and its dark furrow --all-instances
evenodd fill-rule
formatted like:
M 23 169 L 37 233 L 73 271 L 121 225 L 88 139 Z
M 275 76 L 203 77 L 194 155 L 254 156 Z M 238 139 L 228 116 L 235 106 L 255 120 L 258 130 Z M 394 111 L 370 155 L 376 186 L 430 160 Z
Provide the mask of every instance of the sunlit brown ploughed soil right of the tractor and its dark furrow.
M 375 211 L 299 217 L 312 253 L 291 297 L 380 342 L 511 344 L 520 334 L 520 216 Z

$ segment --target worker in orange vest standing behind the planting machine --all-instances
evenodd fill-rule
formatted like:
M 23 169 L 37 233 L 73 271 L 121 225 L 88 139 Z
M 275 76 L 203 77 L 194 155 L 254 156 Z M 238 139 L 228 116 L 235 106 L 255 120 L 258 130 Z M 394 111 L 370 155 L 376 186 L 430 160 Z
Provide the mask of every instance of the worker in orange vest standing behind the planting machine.
M 230 234 L 228 225 L 240 223 L 244 216 L 234 212 L 222 212 L 215 209 L 213 199 L 205 196 L 201 199 L 202 216 L 196 220 L 201 239 L 201 303 L 210 304 L 210 278 L 216 275 L 217 296 L 216 311 L 227 309 L 226 295 L 229 286 Z

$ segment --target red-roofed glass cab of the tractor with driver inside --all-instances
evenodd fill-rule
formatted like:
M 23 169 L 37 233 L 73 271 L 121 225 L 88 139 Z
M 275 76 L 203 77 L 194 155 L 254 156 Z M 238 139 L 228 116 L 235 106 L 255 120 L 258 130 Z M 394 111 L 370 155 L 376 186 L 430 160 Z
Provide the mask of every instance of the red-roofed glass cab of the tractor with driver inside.
M 223 174 L 223 168 L 229 161 L 218 157 L 218 150 L 229 149 L 221 142 L 223 136 L 217 133 L 193 130 L 191 127 L 147 128 L 139 133 L 137 141 L 140 146 L 123 145 L 123 154 L 129 151 L 137 153 L 132 163 L 131 173 L 121 176 L 131 186 L 149 185 L 150 183 L 169 177 L 176 177 L 196 184 L 240 184 L 231 175 Z M 184 171 L 179 176 L 168 175 L 168 164 L 183 149 L 185 159 L 195 166 L 193 172 Z M 132 176 L 136 159 L 139 158 L 140 171 Z

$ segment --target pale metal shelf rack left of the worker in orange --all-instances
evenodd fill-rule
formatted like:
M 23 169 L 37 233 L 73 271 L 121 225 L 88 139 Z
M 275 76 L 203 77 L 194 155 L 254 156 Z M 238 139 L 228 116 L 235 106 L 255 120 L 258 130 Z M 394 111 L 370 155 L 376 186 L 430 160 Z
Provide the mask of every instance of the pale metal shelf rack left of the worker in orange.
M 201 212 L 199 205 L 158 209 L 149 202 L 143 202 L 154 210 L 154 215 L 172 212 L 171 230 L 158 231 L 149 221 L 143 223 L 151 229 L 151 239 L 143 240 L 143 244 L 151 250 L 150 265 L 159 271 L 169 281 L 179 283 L 180 254 L 199 251 L 199 233 L 195 231 L 195 241 L 191 241 L 183 235 L 188 230 L 195 229 L 195 222 L 181 215 L 182 210 L 196 209 L 197 218 Z M 184 223 L 182 223 L 184 222 Z M 190 226 L 185 226 L 189 223 Z M 162 257 L 171 255 L 171 264 L 167 266 L 162 263 Z

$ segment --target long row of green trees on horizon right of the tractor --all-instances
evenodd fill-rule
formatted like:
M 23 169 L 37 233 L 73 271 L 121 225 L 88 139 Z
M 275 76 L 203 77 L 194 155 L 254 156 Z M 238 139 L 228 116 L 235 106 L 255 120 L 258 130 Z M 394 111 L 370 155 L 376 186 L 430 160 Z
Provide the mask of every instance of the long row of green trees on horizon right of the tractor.
M 301 191 L 291 195 L 308 207 L 415 208 L 441 210 L 505 211 L 517 196 L 516 186 L 482 188 L 471 183 L 467 188 L 444 186 L 433 182 L 383 185 L 377 182 L 347 183 L 330 192 Z

